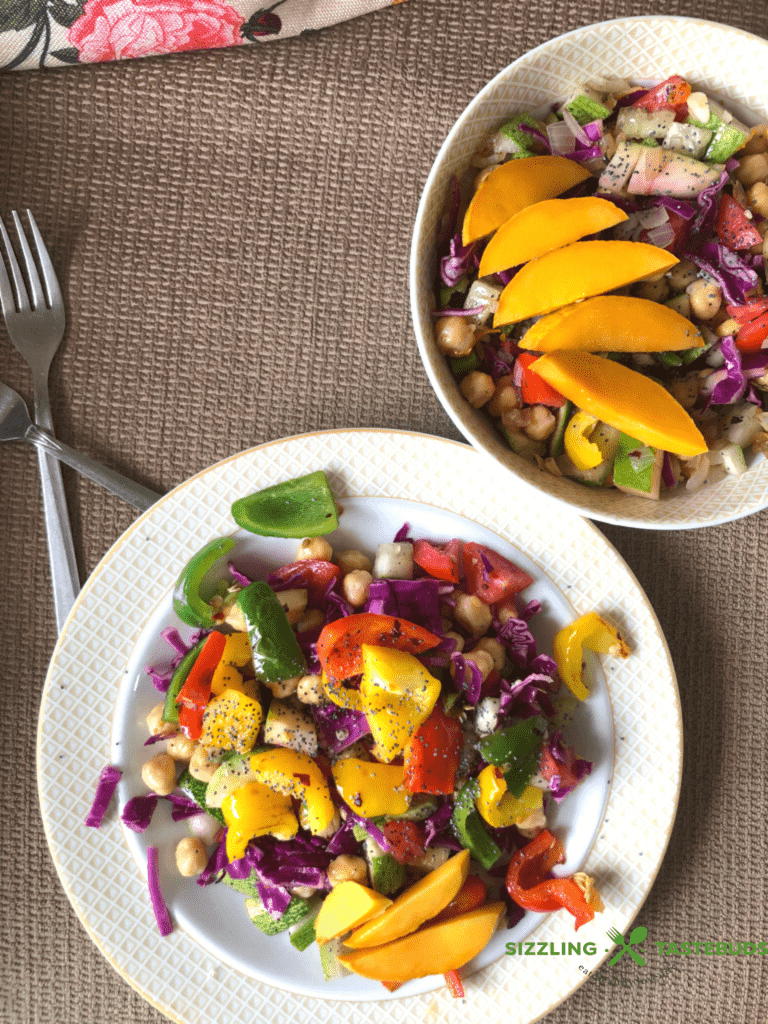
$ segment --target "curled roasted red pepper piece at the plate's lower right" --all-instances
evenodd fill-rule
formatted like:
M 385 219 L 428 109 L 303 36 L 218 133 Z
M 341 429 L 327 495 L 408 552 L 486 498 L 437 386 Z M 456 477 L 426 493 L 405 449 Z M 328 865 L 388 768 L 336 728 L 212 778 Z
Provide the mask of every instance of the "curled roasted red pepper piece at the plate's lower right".
M 562 843 L 549 829 L 512 857 L 507 869 L 507 892 L 523 910 L 546 913 L 564 908 L 575 918 L 577 930 L 595 916 L 594 907 L 570 878 L 548 879 L 555 864 L 565 860 Z

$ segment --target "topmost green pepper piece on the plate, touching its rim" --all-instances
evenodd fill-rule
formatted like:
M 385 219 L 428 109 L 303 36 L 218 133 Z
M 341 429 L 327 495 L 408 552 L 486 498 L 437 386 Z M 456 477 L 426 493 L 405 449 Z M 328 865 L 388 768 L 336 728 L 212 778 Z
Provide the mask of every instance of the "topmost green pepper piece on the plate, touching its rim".
M 339 525 L 336 502 L 322 469 L 238 499 L 232 518 L 243 529 L 262 537 L 319 537 Z

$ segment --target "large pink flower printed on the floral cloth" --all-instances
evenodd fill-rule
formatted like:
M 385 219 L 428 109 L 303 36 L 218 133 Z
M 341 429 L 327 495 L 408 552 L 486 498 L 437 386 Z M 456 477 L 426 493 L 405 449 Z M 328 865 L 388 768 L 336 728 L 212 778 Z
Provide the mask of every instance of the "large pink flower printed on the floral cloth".
M 87 0 L 69 39 L 83 63 L 242 43 L 243 15 L 220 0 Z

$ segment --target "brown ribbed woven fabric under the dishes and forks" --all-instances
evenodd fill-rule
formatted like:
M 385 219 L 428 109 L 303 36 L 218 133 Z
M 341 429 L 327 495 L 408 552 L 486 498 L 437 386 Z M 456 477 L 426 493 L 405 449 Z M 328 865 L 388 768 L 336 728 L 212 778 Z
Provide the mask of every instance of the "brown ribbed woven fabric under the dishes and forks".
M 413 0 L 269 47 L 0 78 L 0 212 L 35 211 L 68 296 L 51 378 L 61 438 L 165 489 L 311 429 L 457 437 L 408 311 L 434 155 L 526 49 L 651 12 L 691 9 Z M 764 2 L 701 0 L 696 13 L 768 36 Z M 1 327 L 0 379 L 31 398 Z M 133 512 L 65 474 L 85 579 Z M 768 939 L 767 528 L 768 513 L 690 534 L 605 529 L 655 606 L 684 713 L 680 810 L 638 919 L 650 939 Z M 0 1024 L 157 1024 L 76 919 L 39 820 L 36 721 L 55 627 L 27 446 L 0 449 Z M 588 982 L 548 1020 L 766 1021 L 765 958 L 670 963 L 653 984 L 630 972 L 623 986 Z

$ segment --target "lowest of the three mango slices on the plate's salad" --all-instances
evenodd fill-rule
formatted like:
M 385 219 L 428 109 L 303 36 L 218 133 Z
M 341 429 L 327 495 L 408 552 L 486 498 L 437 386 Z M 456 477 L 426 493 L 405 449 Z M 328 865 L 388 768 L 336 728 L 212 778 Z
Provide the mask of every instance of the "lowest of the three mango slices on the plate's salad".
M 504 903 L 486 903 L 384 946 L 343 953 L 339 961 L 355 974 L 377 981 L 444 974 L 463 967 L 484 949 L 503 911 Z

